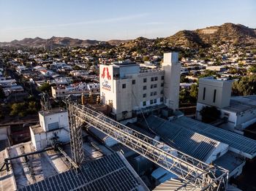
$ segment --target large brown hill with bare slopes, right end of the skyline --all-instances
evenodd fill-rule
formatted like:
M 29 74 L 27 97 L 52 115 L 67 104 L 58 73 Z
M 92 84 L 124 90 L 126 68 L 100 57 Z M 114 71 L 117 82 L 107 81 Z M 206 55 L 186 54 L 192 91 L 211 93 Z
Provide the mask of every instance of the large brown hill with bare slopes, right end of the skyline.
M 163 39 L 162 43 L 176 47 L 206 47 L 221 42 L 256 44 L 256 29 L 225 23 L 222 26 L 210 26 L 195 31 L 178 31 Z

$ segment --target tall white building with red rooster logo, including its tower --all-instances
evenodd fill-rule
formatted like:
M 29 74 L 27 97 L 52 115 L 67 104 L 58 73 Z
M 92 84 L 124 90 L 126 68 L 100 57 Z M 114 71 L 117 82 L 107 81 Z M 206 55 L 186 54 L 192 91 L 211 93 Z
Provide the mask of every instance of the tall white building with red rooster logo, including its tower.
M 116 120 L 132 117 L 133 111 L 165 104 L 178 109 L 181 65 L 178 52 L 164 54 L 159 69 L 140 68 L 137 63 L 119 62 L 99 66 L 102 104 L 111 104 Z

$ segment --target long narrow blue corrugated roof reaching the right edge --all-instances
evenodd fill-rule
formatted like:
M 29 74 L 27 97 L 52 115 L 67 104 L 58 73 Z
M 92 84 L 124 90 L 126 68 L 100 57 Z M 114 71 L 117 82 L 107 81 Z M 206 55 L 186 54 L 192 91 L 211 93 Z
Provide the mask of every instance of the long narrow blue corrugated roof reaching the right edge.
M 189 117 L 179 117 L 171 123 L 228 144 L 233 152 L 244 155 L 245 157 L 253 158 L 256 156 L 256 141 L 253 139 L 246 138 L 245 136 L 222 128 L 214 127 L 204 122 L 193 120 Z

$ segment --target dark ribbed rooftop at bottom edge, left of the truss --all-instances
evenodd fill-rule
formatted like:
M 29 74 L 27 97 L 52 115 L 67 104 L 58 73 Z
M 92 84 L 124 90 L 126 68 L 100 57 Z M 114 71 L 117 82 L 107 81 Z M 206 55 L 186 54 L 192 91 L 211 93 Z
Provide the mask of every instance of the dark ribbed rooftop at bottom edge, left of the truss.
M 148 190 L 120 153 L 84 163 L 75 169 L 20 189 L 29 190 Z

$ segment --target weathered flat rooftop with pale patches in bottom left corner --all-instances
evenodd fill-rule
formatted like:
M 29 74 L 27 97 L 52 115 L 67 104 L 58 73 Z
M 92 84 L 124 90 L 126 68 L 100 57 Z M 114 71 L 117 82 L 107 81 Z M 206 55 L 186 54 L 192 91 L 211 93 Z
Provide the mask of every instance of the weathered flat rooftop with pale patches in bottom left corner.
M 31 141 L 15 144 L 4 149 L 0 152 L 1 166 L 4 164 L 4 158 L 16 157 L 29 152 L 34 152 Z M 53 160 L 50 159 L 51 157 Z M 52 151 L 51 154 L 42 152 L 37 155 L 28 155 L 27 160 L 24 157 L 11 160 L 10 171 L 7 171 L 5 167 L 4 171 L 1 171 L 1 189 L 4 191 L 16 190 L 16 187 L 17 189 L 26 187 L 29 184 L 45 179 L 45 177 L 57 174 L 56 169 L 60 168 L 61 165 L 65 165 L 64 160 L 59 160 L 60 158 L 61 156 Z M 54 160 L 59 160 L 55 166 L 50 163 L 50 161 Z M 68 168 L 69 166 L 66 165 L 66 169 Z

